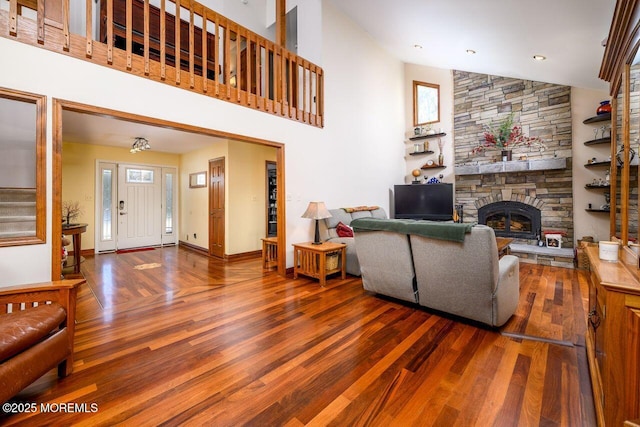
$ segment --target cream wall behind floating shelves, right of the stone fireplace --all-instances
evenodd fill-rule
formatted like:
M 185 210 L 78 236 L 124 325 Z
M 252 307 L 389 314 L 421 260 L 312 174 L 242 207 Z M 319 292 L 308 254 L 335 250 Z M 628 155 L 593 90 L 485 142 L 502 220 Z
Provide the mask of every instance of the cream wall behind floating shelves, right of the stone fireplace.
M 594 139 L 593 130 L 602 125 L 610 126 L 610 122 L 585 125 L 582 122 L 596 115 L 596 108 L 600 101 L 611 99 L 606 92 L 571 88 L 571 118 L 573 126 L 573 221 L 574 236 L 592 236 L 596 241 L 609 240 L 609 215 L 605 213 L 586 212 L 585 208 L 591 203 L 594 208 L 604 204 L 604 190 L 587 190 L 585 184 L 605 176 L 606 168 L 585 168 L 587 161 L 595 157 L 606 160 L 611 155 L 611 146 L 584 145 L 585 141 Z M 598 134 L 601 137 L 601 134 Z M 575 242 L 574 242 L 575 243 Z

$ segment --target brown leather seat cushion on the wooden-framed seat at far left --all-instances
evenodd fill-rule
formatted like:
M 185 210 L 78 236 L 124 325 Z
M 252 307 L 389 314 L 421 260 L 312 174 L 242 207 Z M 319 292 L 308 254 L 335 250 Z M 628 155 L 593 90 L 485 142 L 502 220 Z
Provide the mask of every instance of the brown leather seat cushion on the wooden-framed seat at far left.
M 47 337 L 66 317 L 57 303 L 0 315 L 0 362 Z

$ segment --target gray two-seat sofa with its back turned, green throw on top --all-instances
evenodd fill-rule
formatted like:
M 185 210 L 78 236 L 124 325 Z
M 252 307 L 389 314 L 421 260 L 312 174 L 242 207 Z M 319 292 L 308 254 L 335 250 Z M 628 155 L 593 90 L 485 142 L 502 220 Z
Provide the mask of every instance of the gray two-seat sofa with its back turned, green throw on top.
M 351 224 L 364 288 L 502 326 L 518 305 L 518 258 L 499 259 L 493 229 L 484 225 L 438 224 L 444 228 L 426 235 L 403 225 L 425 222 L 360 220 Z M 393 230 L 376 230 L 376 223 L 391 224 Z M 445 229 L 456 235 L 446 235 Z

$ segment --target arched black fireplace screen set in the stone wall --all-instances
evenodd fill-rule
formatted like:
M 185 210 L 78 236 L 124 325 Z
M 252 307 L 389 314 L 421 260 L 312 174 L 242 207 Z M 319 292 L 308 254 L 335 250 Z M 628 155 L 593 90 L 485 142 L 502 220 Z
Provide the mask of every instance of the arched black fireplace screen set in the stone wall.
M 540 209 L 520 202 L 496 202 L 478 209 L 478 223 L 493 228 L 496 236 L 537 239 Z

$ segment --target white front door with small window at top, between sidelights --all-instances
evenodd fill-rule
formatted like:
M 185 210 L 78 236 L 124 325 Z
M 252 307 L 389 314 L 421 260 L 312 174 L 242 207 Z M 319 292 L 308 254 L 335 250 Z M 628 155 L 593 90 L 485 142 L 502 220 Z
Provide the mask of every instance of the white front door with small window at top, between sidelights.
M 161 168 L 118 165 L 118 249 L 162 244 Z

